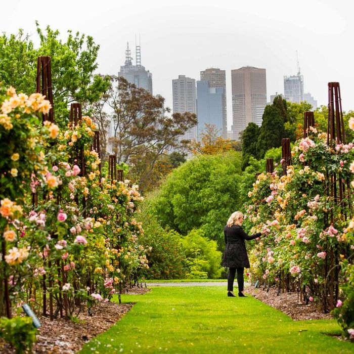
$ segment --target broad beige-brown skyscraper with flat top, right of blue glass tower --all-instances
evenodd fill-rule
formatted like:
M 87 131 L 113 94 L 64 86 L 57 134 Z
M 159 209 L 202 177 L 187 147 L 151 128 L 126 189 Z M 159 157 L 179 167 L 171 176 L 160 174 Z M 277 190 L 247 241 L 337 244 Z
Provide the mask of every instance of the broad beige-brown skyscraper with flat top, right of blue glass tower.
M 240 140 L 240 132 L 248 123 L 260 126 L 267 105 L 265 69 L 252 66 L 231 70 L 232 120 L 234 140 Z

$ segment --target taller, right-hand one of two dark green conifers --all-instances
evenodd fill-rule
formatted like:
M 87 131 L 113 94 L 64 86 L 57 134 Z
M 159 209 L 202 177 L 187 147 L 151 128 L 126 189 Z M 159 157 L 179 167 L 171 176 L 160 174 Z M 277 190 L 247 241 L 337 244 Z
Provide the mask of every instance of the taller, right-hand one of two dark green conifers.
M 286 138 L 284 119 L 279 109 L 275 105 L 265 106 L 257 142 L 257 157 L 262 158 L 267 150 L 281 146 L 283 138 Z

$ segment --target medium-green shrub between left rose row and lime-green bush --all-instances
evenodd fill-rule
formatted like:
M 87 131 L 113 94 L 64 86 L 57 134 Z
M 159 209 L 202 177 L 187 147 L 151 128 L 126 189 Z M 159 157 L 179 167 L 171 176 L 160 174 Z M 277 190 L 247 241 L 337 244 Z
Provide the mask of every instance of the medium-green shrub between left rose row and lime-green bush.
M 146 277 L 183 278 L 185 253 L 181 247 L 180 235 L 160 226 L 156 215 L 151 212 L 149 201 L 143 202 L 137 221 L 144 225 L 144 233 L 139 236 L 139 242 L 147 249 L 149 269 L 146 271 Z

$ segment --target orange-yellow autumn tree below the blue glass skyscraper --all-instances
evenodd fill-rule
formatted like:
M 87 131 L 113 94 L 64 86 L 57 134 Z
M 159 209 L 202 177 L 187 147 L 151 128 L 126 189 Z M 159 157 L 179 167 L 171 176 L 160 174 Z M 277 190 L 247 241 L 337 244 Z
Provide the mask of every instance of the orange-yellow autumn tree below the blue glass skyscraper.
M 190 150 L 193 154 L 214 155 L 220 152 L 236 150 L 236 142 L 230 139 L 224 139 L 220 135 L 220 130 L 214 124 L 205 124 L 202 130 L 201 141 L 193 141 Z

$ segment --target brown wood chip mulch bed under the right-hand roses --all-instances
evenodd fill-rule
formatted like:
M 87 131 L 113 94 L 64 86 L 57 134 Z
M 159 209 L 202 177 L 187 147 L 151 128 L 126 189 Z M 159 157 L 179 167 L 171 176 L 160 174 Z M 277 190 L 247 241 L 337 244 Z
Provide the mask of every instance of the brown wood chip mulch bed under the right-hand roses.
M 247 287 L 245 291 L 267 305 L 279 309 L 296 321 L 333 319 L 332 315 L 323 314 L 317 303 L 309 302 L 306 305 L 305 302 L 300 301 L 297 292 L 281 292 L 277 296 L 277 289 L 275 288 L 270 288 L 267 292 L 267 289 L 255 289 L 253 286 Z

